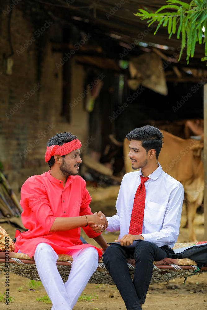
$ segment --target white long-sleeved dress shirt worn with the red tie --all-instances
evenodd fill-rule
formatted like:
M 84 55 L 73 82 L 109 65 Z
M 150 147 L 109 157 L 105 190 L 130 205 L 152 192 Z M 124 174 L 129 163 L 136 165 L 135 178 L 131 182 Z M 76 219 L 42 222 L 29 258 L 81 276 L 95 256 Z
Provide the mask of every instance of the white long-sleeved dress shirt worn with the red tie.
M 141 182 L 139 171 L 124 175 L 116 201 L 117 214 L 107 217 L 107 231 L 120 230 L 119 239 L 129 233 L 134 196 Z M 180 182 L 159 167 L 148 176 L 142 236 L 157 246 L 173 247 L 178 239 L 184 189 Z

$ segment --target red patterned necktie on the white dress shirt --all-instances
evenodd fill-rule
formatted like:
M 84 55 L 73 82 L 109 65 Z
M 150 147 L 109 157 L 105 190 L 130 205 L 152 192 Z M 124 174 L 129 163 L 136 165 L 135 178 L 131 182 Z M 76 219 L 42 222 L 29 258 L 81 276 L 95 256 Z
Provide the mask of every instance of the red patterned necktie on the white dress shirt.
M 145 176 L 140 175 L 141 183 L 139 184 L 135 197 L 131 215 L 131 222 L 129 226 L 130 235 L 142 234 L 142 224 L 144 218 L 145 208 L 145 182 L 149 179 Z

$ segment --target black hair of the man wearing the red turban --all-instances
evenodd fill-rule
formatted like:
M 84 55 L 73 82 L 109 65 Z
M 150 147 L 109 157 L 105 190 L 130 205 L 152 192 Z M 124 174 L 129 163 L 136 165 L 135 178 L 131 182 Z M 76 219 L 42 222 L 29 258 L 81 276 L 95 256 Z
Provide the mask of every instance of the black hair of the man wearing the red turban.
M 47 142 L 47 146 L 52 146 L 52 145 L 63 145 L 65 142 L 71 142 L 74 139 L 77 139 L 75 135 L 72 135 L 70 132 L 64 131 L 64 133 L 59 133 L 53 136 L 52 138 L 49 139 Z M 64 158 L 65 155 L 62 155 Z M 48 162 L 49 167 L 51 168 L 55 163 L 54 156 L 52 156 Z

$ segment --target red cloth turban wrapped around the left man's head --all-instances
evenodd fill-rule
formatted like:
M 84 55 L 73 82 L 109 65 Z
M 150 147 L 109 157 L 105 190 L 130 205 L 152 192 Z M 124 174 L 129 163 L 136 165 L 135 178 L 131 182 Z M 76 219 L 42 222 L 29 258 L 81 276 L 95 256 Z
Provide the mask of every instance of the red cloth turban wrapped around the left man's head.
M 66 155 L 77 148 L 81 147 L 79 139 L 74 139 L 70 142 L 65 142 L 63 145 L 51 145 L 47 146 L 47 151 L 45 153 L 45 161 L 49 162 L 50 158 L 54 155 Z

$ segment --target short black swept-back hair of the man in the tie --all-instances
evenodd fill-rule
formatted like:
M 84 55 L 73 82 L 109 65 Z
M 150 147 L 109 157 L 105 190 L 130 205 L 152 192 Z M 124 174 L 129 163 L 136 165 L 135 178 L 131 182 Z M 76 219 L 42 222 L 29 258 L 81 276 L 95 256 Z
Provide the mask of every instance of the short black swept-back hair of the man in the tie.
M 126 135 L 129 141 L 142 141 L 142 147 L 146 149 L 146 153 L 152 148 L 155 149 L 155 157 L 158 159 L 162 144 L 163 134 L 154 126 L 146 125 L 140 128 L 135 128 Z

